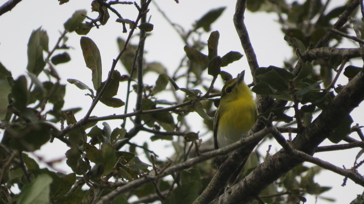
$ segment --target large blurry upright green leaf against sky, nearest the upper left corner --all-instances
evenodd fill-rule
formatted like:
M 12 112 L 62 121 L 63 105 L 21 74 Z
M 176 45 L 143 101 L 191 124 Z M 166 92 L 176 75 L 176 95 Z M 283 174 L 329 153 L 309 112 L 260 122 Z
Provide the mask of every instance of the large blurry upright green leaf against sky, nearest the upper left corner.
M 33 30 L 28 42 L 27 70 L 38 76 L 43 71 L 46 62 L 43 59 L 43 46 L 40 44 L 41 29 Z

